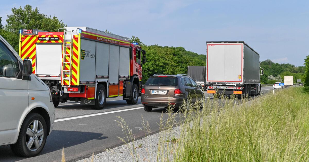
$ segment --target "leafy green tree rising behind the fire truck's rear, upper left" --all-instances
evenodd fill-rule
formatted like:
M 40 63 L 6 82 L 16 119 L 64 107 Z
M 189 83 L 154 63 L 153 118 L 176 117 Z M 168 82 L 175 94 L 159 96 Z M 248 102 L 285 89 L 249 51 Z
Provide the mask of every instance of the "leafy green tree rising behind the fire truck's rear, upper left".
M 39 29 L 44 31 L 57 31 L 66 26 L 57 17 L 47 16 L 39 12 L 39 9 L 26 5 L 23 8 L 12 8 L 12 14 L 6 15 L 6 25 L 0 34 L 19 51 L 19 30 L 20 29 Z

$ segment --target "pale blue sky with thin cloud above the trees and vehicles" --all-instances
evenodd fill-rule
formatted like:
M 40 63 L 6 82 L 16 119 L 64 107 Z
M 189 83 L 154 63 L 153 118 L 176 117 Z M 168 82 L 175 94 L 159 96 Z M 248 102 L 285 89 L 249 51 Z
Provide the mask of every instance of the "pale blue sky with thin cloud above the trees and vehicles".
M 206 41 L 245 41 L 260 54 L 260 60 L 296 66 L 303 66 L 309 55 L 309 1 L 305 0 L 11 0 L 0 6 L 2 24 L 12 7 L 26 4 L 55 15 L 68 26 L 135 35 L 147 45 L 181 46 L 206 54 Z

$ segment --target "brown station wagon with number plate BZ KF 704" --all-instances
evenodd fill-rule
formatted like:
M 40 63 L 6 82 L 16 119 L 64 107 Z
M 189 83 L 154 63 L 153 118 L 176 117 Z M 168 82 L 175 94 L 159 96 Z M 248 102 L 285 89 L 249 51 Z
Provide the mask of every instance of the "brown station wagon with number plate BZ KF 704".
M 186 74 L 155 74 L 143 86 L 141 101 L 145 111 L 151 111 L 153 107 L 168 107 L 168 103 L 179 107 L 189 94 L 192 102 L 204 99 L 201 89 Z

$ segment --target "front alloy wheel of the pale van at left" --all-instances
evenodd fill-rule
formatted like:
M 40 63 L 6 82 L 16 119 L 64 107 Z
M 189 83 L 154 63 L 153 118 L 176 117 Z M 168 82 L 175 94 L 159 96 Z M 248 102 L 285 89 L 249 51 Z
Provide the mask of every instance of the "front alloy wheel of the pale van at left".
M 37 113 L 28 114 L 20 127 L 17 142 L 11 144 L 11 149 L 17 156 L 36 156 L 43 150 L 46 137 L 44 118 Z

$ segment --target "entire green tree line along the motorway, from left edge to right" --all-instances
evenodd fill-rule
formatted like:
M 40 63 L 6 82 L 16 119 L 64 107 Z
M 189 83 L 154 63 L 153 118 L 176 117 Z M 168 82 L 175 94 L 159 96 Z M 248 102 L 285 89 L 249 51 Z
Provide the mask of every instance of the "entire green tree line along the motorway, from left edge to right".
M 66 26 L 55 16 L 48 16 L 40 13 L 40 9 L 26 5 L 23 8 L 12 8 L 12 13 L 6 15 L 6 24 L 2 25 L 0 17 L 0 35 L 2 35 L 18 52 L 19 51 L 19 30 L 39 29 L 44 31 L 57 31 Z M 105 30 L 106 32 L 109 32 Z M 130 42 L 138 42 L 146 51 L 146 63 L 143 64 L 143 82 L 155 73 L 162 74 L 186 74 L 188 66 L 206 66 L 206 55 L 186 51 L 183 47 L 168 47 L 159 45 L 146 45 L 138 37 L 132 36 Z M 264 69 L 261 76 L 261 84 L 274 84 L 283 81 L 284 76 L 294 76 L 301 79 L 305 90 L 309 92 L 309 56 L 305 59 L 305 66 L 295 67 L 292 64 L 278 64 L 271 60 L 260 62 Z

